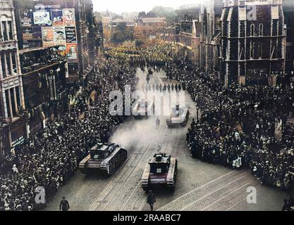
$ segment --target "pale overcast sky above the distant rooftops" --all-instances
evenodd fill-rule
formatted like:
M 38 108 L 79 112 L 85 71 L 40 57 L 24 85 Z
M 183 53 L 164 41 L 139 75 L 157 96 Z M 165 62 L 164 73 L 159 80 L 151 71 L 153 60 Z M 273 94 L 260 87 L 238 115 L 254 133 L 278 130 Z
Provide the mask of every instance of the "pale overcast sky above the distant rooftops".
M 94 11 L 114 13 L 150 11 L 154 6 L 177 8 L 185 4 L 197 4 L 200 0 L 92 0 Z

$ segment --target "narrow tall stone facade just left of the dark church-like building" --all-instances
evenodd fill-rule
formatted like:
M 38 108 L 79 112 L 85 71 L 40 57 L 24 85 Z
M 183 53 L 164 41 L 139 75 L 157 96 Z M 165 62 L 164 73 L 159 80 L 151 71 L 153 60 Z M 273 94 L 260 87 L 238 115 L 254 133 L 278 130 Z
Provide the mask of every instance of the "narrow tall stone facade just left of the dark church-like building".
M 221 34 L 221 0 L 203 0 L 201 3 L 200 23 L 200 68 L 207 72 L 219 71 L 219 39 Z

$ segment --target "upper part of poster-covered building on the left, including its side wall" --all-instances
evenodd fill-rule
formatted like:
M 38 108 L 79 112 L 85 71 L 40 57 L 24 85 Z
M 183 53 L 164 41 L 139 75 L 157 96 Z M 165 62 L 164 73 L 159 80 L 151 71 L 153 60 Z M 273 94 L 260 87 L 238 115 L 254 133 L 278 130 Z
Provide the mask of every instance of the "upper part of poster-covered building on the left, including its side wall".
M 18 30 L 22 31 L 18 33 L 20 49 L 60 46 L 68 56 L 71 84 L 82 82 L 92 72 L 91 0 L 15 0 L 15 7 Z

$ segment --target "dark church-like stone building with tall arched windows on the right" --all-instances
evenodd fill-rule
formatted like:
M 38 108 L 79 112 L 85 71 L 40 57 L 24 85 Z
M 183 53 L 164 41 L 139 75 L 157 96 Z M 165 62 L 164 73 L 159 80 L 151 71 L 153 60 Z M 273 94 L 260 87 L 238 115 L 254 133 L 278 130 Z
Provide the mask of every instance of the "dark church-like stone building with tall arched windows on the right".
M 226 0 L 221 15 L 221 82 L 260 83 L 285 72 L 281 0 Z

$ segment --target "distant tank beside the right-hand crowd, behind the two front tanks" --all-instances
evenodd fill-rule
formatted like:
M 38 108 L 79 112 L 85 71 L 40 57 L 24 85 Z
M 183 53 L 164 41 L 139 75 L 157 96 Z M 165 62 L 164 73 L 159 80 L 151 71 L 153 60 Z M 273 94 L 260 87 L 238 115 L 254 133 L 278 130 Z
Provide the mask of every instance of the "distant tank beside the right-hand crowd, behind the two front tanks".
M 181 126 L 185 127 L 189 120 L 190 112 L 188 108 L 180 108 L 180 105 L 176 105 L 175 107 L 171 108 L 171 114 L 169 118 L 166 119 L 166 124 L 169 127 L 172 127 L 176 124 L 180 124 Z

